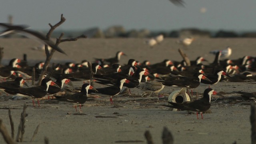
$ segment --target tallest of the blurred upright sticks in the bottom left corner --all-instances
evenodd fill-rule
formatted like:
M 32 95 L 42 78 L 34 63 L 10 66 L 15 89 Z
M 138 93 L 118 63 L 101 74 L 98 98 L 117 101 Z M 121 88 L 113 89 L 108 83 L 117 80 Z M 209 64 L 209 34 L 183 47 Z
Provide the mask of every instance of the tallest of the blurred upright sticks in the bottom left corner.
M 24 104 L 23 105 L 23 112 L 21 113 L 21 117 L 20 117 L 20 125 L 18 126 L 18 133 L 17 133 L 17 136 L 16 136 L 16 142 L 22 142 L 23 141 L 23 135 L 25 133 L 26 108 L 27 108 L 27 105 Z

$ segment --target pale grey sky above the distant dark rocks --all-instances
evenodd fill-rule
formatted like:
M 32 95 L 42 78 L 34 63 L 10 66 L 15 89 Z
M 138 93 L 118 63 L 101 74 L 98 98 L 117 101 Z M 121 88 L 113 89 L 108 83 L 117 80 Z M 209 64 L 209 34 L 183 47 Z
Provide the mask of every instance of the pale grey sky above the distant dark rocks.
M 8 15 L 14 24 L 48 30 L 64 14 L 60 29 L 85 30 L 122 25 L 126 30 L 256 30 L 256 0 L 184 0 L 178 7 L 168 0 L 1 0 L 0 22 Z M 200 12 L 203 10 L 203 12 Z

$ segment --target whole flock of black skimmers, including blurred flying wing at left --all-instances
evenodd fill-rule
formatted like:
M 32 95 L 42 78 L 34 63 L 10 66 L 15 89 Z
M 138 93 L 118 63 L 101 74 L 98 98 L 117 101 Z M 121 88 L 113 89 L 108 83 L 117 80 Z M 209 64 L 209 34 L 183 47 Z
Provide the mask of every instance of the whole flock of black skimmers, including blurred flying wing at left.
M 22 26 L 10 26 L 2 23 L 0 23 L 0 26 L 7 28 L 4 32 L 18 30 L 32 34 L 40 38 L 45 44 L 65 54 L 59 47 L 52 45 L 51 41 L 45 40 L 45 37 L 37 32 L 25 30 Z M 55 96 L 55 100 L 80 104 L 81 111 L 81 104 L 86 102 L 88 93 L 109 95 L 110 102 L 113 103 L 112 96 L 120 94 L 123 87 L 143 88 L 158 93 L 164 86 L 197 88 L 200 83 L 208 84 L 210 87 L 210 85 L 217 84 L 221 80 L 230 82 L 256 80 L 255 76 L 249 73 L 255 70 L 254 57 L 244 56 L 236 60 L 221 60 L 222 56 L 228 57 L 228 54 L 231 54 L 231 48 L 228 47 L 223 55 L 222 51 L 216 50 L 211 52 L 215 54 L 215 59 L 213 62 L 208 62 L 209 64 L 202 64 L 202 62 L 207 60 L 198 56 L 196 60 L 190 61 L 190 66 L 184 61 L 178 62 L 167 59 L 155 64 L 150 64 L 147 60 L 138 62 L 130 59 L 126 65 L 120 65 L 118 63 L 121 56 L 126 54 L 124 52 L 117 52 L 113 58 L 95 58 L 95 62 L 91 64 L 93 77 L 90 76 L 91 70 L 88 66 L 88 61 L 83 60 L 78 64 L 67 62 L 63 65 L 59 64 L 54 68 L 48 68 L 47 76 L 42 80 L 41 85 L 28 88 L 22 87 L 23 84 L 28 86 L 25 80 L 31 80 L 33 69 L 34 78 L 38 80 L 44 63 L 40 62 L 35 66 L 28 66 L 26 60 L 14 58 L 10 60 L 9 65 L 0 68 L 0 78 L 4 79 L 4 82 L 0 83 L 0 88 L 9 94 L 31 96 L 34 106 L 34 98 L 37 98 L 38 106 L 40 106 L 40 98 L 45 97 L 47 94 L 60 92 L 64 84 L 72 86 L 71 81 L 89 81 L 93 78 L 99 84 L 111 85 L 104 88 L 94 88 L 90 84 L 84 83 L 78 93 Z M 181 104 L 169 102 L 171 105 L 166 106 L 196 111 L 202 114 L 202 112 L 210 108 L 212 94 L 217 93 L 211 88 L 207 88 L 204 91 L 203 98 L 200 100 Z

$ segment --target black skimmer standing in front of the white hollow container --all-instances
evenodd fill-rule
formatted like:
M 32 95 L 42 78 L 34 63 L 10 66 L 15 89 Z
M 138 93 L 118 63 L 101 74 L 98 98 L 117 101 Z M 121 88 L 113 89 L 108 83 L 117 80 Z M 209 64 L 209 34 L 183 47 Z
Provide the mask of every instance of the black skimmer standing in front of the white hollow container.
M 198 112 L 200 112 L 203 119 L 202 112 L 205 112 L 211 107 L 211 96 L 216 94 L 217 94 L 216 91 L 214 91 L 211 88 L 207 88 L 206 90 L 204 90 L 203 98 L 199 100 L 195 100 L 193 102 L 183 102 L 183 103 L 169 102 L 172 105 L 163 105 L 163 106 L 167 106 L 170 108 L 177 108 L 180 110 L 194 111 L 196 112 L 197 119 L 198 119 Z

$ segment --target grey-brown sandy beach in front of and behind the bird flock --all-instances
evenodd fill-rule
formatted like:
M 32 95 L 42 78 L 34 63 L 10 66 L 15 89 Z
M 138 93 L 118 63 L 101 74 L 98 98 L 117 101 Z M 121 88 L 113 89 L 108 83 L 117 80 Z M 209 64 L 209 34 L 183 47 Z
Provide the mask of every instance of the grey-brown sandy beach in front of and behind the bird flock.
M 76 42 L 60 44 L 68 56 L 56 52 L 53 60 L 67 60 L 81 62 L 93 61 L 94 58 L 110 58 L 117 51 L 124 52 L 120 64 L 126 64 L 130 58 L 140 62 L 149 60 L 152 64 L 164 59 L 182 60 L 178 48 L 182 48 L 190 60 L 203 56 L 209 62 L 213 62 L 214 55 L 211 50 L 222 50 L 227 46 L 232 48 L 230 59 L 243 56 L 255 56 L 255 38 L 198 38 L 188 48 L 177 44 L 178 39 L 167 38 L 153 48 L 144 44 L 140 38 L 115 38 L 115 39 L 80 39 Z M 43 51 L 31 50 L 32 47 L 41 44 L 26 38 L 0 38 L 0 47 L 4 47 L 4 60 L 6 64 L 12 58 L 21 58 L 27 54 L 28 60 L 44 61 Z M 205 63 L 208 64 L 208 63 Z M 30 83 L 30 82 L 29 82 Z M 82 86 L 83 82 L 74 82 L 75 87 Z M 255 82 L 219 82 L 211 88 L 224 96 L 240 96 L 233 91 L 255 92 Z M 102 87 L 95 84 L 94 87 Z M 194 89 L 202 96 L 206 84 L 200 84 Z M 180 88 L 165 86 L 160 92 L 164 97 L 151 96 L 142 98 L 144 92 L 138 88 L 131 89 L 132 95 L 121 95 L 113 98 L 114 105 L 110 104 L 109 96 L 100 95 L 100 98 L 90 98 L 82 106 L 86 115 L 74 115 L 75 109 L 67 102 L 48 103 L 51 100 L 41 101 L 41 107 L 34 108 L 32 100 L 8 100 L 12 96 L 6 96 L 0 91 L 0 118 L 10 132 L 8 108 L 11 109 L 14 120 L 15 134 L 20 122 L 20 113 L 24 104 L 28 105 L 26 113 L 24 142 L 28 144 L 42 144 L 44 137 L 51 144 L 114 144 L 118 141 L 129 144 L 146 144 L 144 132 L 149 130 L 155 144 L 162 143 L 162 130 L 167 127 L 172 132 L 174 144 L 250 144 L 250 106 L 243 105 L 244 100 L 216 100 L 212 101 L 211 114 L 204 114 L 204 119 L 197 119 L 196 114 L 188 114 L 187 111 L 173 112 L 169 108 L 160 106 L 167 104 L 170 93 Z M 218 97 L 214 96 L 213 99 Z M 149 105 L 152 104 L 152 105 Z M 154 106 L 153 106 L 154 104 Z M 116 113 L 116 114 L 114 114 Z M 106 116 L 111 118 L 97 118 Z M 30 139 L 40 124 L 38 134 L 33 142 Z M 16 135 L 15 135 L 16 136 Z M 4 144 L 0 136 L 0 144 Z

